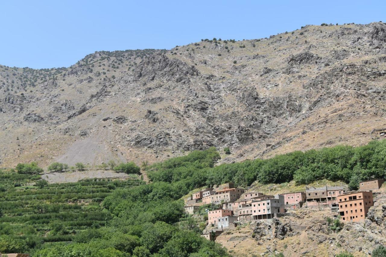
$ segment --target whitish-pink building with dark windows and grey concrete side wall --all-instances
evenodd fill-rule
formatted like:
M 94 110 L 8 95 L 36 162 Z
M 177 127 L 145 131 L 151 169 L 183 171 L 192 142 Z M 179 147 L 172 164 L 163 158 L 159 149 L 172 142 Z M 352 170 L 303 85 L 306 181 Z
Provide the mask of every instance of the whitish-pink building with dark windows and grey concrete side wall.
M 285 212 L 284 196 L 281 194 L 274 198 L 252 201 L 251 204 L 253 220 L 270 219 L 274 217 L 274 213 Z

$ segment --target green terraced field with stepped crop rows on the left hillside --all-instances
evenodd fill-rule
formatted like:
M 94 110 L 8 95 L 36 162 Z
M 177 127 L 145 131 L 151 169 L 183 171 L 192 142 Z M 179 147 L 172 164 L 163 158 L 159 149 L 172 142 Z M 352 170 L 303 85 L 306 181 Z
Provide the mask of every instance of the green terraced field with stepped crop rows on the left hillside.
M 29 247 L 71 241 L 76 233 L 104 226 L 109 214 L 102 200 L 138 179 L 85 179 L 36 186 L 39 175 L 0 171 L 0 235 L 26 240 Z

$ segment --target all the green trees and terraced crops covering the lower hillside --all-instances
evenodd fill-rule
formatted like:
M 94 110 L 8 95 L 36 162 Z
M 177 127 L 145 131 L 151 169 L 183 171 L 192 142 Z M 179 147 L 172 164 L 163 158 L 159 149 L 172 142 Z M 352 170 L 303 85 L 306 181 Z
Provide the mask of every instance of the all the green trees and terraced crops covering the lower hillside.
M 181 197 L 189 191 L 230 181 L 250 186 L 256 180 L 385 178 L 385 144 L 372 141 L 220 166 L 214 166 L 220 155 L 212 147 L 146 167 L 150 184 L 98 179 L 45 184 L 38 183 L 39 175 L 3 171 L 0 251 L 39 257 L 226 256 L 221 245 L 200 237 L 201 220 L 183 213 Z

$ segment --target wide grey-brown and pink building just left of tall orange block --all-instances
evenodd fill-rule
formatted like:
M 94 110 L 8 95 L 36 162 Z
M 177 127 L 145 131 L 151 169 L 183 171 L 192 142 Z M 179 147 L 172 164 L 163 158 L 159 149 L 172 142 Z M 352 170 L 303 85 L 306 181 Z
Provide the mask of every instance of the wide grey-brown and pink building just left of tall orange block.
M 322 188 L 306 187 L 306 201 L 316 201 L 322 204 L 336 204 L 337 196 L 344 193 L 342 186 L 323 186 Z

